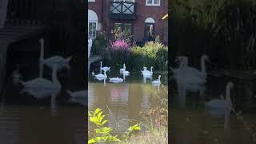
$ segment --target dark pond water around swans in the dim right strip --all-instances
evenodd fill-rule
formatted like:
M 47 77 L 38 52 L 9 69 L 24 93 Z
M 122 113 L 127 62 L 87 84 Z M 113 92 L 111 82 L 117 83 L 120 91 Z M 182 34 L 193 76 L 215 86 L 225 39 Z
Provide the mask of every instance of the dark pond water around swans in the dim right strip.
M 205 109 L 204 103 L 213 98 L 226 98 L 226 84 L 233 82 L 231 101 L 237 112 L 216 110 L 215 114 Z M 237 78 L 208 76 L 205 86 L 190 88 L 170 83 L 172 110 L 172 138 L 174 143 L 255 143 L 253 134 L 246 126 L 256 126 L 255 81 Z M 183 87 L 183 89 L 182 89 Z M 186 90 L 184 89 L 186 87 Z M 242 111 L 243 120 L 236 114 Z M 245 126 L 245 124 L 248 125 Z M 254 130 L 252 129 L 255 133 Z

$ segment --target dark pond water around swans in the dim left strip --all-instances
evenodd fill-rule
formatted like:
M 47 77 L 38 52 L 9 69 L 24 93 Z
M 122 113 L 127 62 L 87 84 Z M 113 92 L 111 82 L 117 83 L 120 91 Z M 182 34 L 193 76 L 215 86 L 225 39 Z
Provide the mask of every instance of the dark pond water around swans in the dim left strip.
M 84 90 L 86 80 L 82 69 L 83 56 L 74 56 L 70 73 L 58 73 L 62 85 L 59 94 L 43 98 L 24 93 L 22 86 L 14 85 L 10 74 L 19 64 L 24 82 L 38 78 L 38 55 L 19 54 L 7 63 L 10 67 L 1 95 L 0 142 L 6 144 L 81 144 L 86 141 L 85 98 L 70 98 L 66 90 Z M 16 58 L 16 59 L 15 59 Z M 79 63 L 80 62 L 80 63 Z M 51 80 L 51 70 L 45 66 L 43 77 Z M 63 73 L 63 74 L 62 74 Z M 42 90 L 38 87 L 38 91 Z

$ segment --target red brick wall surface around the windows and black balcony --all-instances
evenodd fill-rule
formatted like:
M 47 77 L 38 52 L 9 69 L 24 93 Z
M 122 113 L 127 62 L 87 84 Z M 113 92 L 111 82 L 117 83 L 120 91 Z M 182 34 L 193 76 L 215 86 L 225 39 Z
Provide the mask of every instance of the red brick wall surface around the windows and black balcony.
M 163 41 L 167 42 L 168 35 L 166 33 L 168 21 L 161 18 L 168 13 L 168 0 L 161 0 L 161 6 L 146 6 L 146 0 L 135 0 L 137 4 L 135 20 L 115 20 L 110 19 L 108 14 L 110 12 L 110 0 L 103 0 L 103 15 L 102 15 L 102 0 L 95 0 L 96 2 L 88 2 L 88 8 L 94 10 L 98 14 L 99 22 L 103 17 L 102 30 L 110 34 L 114 29 L 116 22 L 129 22 L 132 23 L 134 28 L 134 40 L 142 42 L 144 39 L 145 20 L 146 18 L 154 18 L 154 35 L 159 35 Z

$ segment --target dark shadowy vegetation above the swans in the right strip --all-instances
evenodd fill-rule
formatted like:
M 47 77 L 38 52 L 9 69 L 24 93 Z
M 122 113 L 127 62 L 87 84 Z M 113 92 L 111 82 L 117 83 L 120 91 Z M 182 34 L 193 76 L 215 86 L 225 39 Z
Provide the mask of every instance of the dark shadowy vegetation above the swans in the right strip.
M 193 65 L 208 54 L 217 68 L 250 70 L 256 66 L 255 8 L 252 0 L 170 1 L 171 55 L 187 55 Z

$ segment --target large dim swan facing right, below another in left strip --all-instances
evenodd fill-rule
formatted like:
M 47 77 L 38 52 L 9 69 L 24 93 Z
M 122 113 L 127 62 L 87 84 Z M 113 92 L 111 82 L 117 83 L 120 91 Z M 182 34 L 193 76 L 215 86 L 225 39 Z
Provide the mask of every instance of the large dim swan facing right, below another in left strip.
M 35 98 L 44 98 L 53 93 L 56 94 L 59 90 L 61 90 L 62 87 L 60 82 L 58 82 L 56 65 L 52 71 L 52 82 L 46 78 L 40 77 L 28 82 L 20 82 L 24 86 L 21 93 L 27 92 L 33 95 Z

